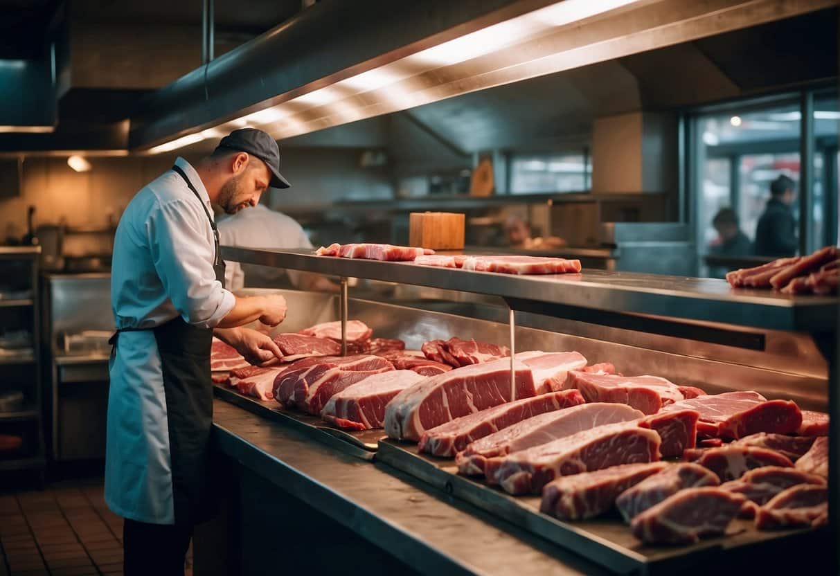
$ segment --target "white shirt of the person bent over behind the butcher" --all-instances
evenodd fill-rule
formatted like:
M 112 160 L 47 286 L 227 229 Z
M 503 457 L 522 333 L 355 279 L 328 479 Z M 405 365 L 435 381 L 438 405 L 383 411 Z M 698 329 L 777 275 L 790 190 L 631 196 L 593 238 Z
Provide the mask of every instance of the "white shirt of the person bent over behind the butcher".
M 239 248 L 265 249 L 312 249 L 301 225 L 281 212 L 275 212 L 263 204 L 243 208 L 234 216 L 224 218 L 218 223 L 219 242 L 223 246 Z M 293 285 L 300 278 L 296 270 L 282 270 L 269 266 L 255 266 L 239 262 L 225 262 L 225 281 L 231 290 L 244 287 L 245 272 L 248 273 L 248 285 L 276 287 L 284 273 L 289 275 Z

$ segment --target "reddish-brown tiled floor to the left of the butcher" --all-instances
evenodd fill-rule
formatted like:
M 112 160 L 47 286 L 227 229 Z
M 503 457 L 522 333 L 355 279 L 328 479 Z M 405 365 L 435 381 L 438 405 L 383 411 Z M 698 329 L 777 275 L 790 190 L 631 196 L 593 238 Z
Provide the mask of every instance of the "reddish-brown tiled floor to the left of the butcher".
M 0 493 L 0 576 L 122 574 L 122 537 L 101 480 Z

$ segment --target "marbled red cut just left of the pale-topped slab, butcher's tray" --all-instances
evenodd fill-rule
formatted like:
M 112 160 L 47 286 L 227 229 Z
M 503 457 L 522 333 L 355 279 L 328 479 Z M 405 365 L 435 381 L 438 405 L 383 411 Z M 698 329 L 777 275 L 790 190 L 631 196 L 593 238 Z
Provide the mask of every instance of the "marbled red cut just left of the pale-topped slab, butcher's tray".
M 274 397 L 285 406 L 320 414 L 333 394 L 392 369 L 394 366 L 386 359 L 372 355 L 305 358 L 277 374 Z

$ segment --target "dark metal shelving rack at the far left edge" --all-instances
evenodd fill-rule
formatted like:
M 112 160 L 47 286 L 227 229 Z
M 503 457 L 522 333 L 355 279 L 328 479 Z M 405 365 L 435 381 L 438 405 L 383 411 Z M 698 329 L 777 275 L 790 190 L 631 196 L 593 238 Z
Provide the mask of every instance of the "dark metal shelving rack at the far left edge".
M 8 300 L 0 299 L 0 324 L 3 323 L 3 316 L 9 311 L 19 308 L 28 308 L 31 319 L 32 348 L 22 350 L 17 354 L 4 354 L 0 356 L 0 365 L 4 367 L 3 376 L 0 379 L 8 378 L 8 368 L 13 366 L 22 367 L 18 379 L 11 384 L 19 386 L 24 392 L 24 406 L 18 411 L 0 412 L 0 425 L 4 429 L 8 426 L 34 426 L 34 432 L 30 431 L 29 439 L 35 443 L 24 456 L 13 458 L 0 458 L 0 472 L 31 470 L 39 474 L 39 483 L 44 483 L 44 470 L 46 465 L 44 450 L 44 417 L 43 401 L 41 398 L 41 374 L 39 362 L 39 331 L 40 331 L 40 306 L 38 290 L 38 261 L 41 249 L 38 246 L 27 247 L 0 247 L 0 270 L 8 268 L 11 262 L 27 262 L 29 264 L 29 286 L 32 296 L 29 298 L 14 298 Z M 2 274 L 2 272 L 0 272 Z M 0 380 L 0 384 L 6 384 Z M 24 435 L 24 437 L 26 437 Z

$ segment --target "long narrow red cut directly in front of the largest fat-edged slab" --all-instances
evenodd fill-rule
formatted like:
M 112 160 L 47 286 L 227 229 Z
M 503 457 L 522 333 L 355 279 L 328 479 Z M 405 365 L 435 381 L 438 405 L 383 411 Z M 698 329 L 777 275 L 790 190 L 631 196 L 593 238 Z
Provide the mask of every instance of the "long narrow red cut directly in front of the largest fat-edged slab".
M 423 432 L 418 449 L 435 456 L 454 456 L 470 442 L 498 432 L 538 414 L 559 411 L 569 406 L 583 404 L 577 390 L 562 390 L 506 402 L 499 406 L 455 418 L 438 427 Z

